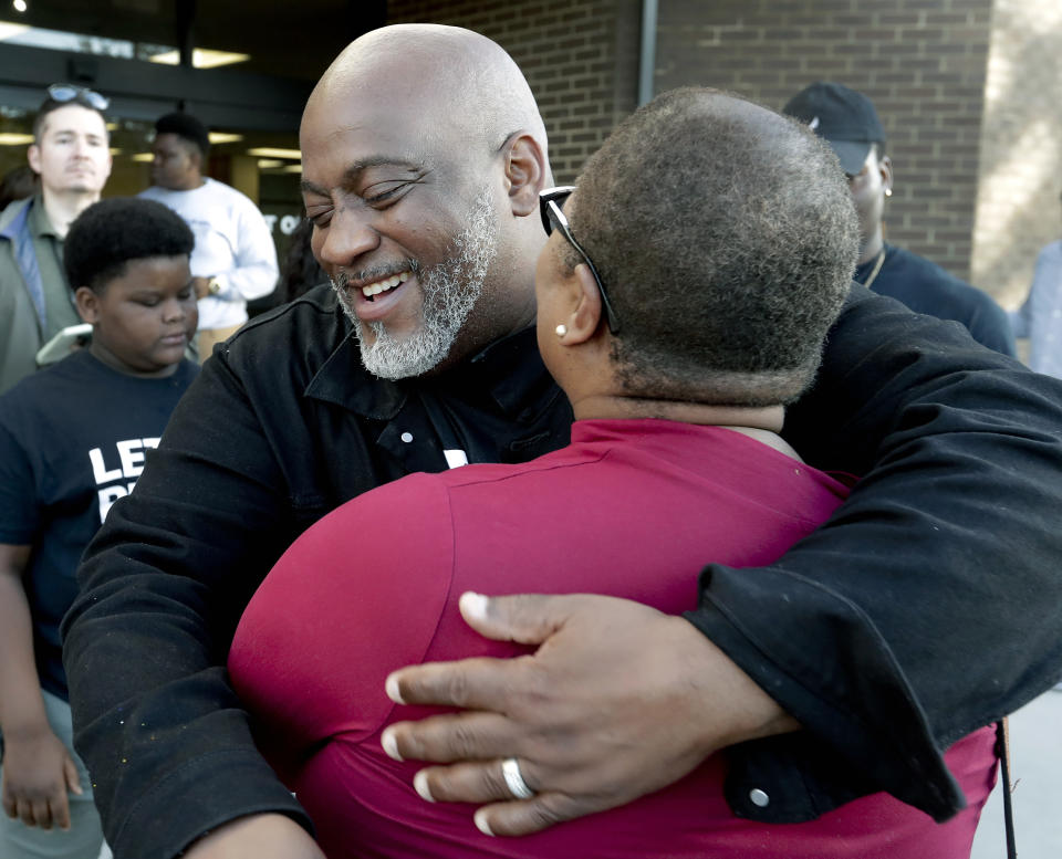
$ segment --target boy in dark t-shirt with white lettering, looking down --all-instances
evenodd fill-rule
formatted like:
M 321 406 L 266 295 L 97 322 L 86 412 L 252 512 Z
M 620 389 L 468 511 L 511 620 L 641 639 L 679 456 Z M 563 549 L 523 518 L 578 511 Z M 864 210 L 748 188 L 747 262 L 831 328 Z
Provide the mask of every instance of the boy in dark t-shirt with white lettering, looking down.
M 92 341 L 0 397 L 4 859 L 93 859 L 103 842 L 71 743 L 59 624 L 81 553 L 197 371 L 184 358 L 198 321 L 192 244 L 185 222 L 150 200 L 86 209 L 64 264 Z M 53 826 L 66 831 L 42 831 Z

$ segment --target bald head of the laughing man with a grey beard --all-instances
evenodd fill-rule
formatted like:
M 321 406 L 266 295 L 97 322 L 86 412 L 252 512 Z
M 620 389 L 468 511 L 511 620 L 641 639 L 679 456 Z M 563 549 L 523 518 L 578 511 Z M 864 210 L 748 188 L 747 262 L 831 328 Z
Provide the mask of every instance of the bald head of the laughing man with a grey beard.
M 545 129 L 501 48 L 434 24 L 366 33 L 300 142 L 311 247 L 371 371 L 434 371 L 531 323 Z

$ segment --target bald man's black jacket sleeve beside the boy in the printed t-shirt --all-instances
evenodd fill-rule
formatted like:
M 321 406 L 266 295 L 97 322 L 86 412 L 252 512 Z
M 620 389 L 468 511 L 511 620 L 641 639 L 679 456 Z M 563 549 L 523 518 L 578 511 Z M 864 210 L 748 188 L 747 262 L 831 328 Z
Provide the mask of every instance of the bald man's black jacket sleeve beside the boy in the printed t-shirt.
M 75 744 L 118 859 L 170 859 L 258 811 L 309 828 L 223 668 L 243 606 L 309 524 L 290 521 L 284 485 L 274 440 L 215 356 L 86 551 L 64 662 Z

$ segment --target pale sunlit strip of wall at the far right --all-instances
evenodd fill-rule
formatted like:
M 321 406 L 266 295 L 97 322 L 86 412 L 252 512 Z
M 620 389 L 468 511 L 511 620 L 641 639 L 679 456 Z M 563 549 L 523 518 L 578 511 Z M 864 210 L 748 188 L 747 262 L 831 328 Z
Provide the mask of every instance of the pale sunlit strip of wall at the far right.
M 1062 235 L 1062 3 L 996 0 L 972 282 L 1017 305 Z

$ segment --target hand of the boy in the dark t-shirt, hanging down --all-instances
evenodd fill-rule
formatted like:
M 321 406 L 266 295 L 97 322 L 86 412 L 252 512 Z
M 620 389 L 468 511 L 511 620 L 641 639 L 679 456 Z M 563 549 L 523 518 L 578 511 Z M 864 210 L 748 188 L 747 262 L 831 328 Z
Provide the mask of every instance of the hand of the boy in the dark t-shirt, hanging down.
M 77 767 L 46 725 L 3 737 L 3 810 L 27 826 L 70 829 L 66 790 L 81 794 Z

